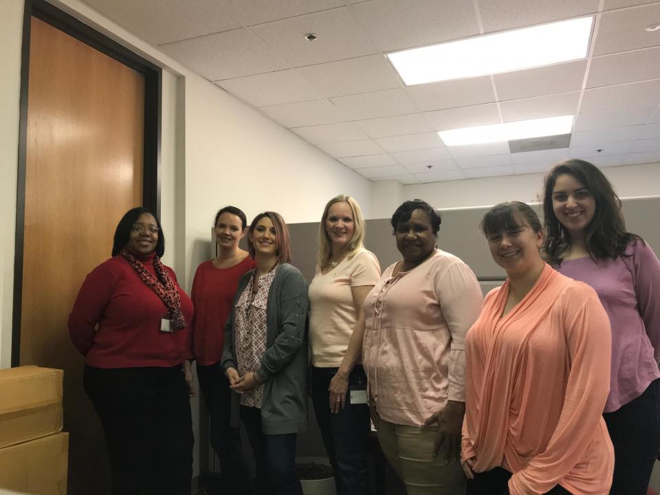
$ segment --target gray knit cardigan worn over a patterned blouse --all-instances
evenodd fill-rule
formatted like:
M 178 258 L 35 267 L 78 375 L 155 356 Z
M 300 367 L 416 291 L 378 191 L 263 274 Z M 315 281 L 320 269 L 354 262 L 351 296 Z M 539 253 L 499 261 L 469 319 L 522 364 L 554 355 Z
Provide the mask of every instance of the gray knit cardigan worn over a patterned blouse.
M 236 368 L 234 309 L 254 270 L 239 281 L 225 325 L 221 366 Z M 266 351 L 256 371 L 264 382 L 261 425 L 265 434 L 307 429 L 307 282 L 293 265 L 282 263 L 268 292 Z M 232 426 L 239 424 L 239 395 L 232 394 Z

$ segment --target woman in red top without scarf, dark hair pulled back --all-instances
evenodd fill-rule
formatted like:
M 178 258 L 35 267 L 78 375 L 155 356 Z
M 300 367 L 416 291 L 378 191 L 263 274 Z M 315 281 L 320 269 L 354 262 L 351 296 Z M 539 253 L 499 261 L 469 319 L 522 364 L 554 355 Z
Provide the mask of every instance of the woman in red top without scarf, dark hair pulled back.
M 215 215 L 218 256 L 197 267 L 192 281 L 193 348 L 201 395 L 210 416 L 210 441 L 220 459 L 223 493 L 252 493 L 250 467 L 241 450 L 238 428 L 230 426 L 232 391 L 220 366 L 225 343 L 225 322 L 232 311 L 234 294 L 243 274 L 256 264 L 239 248 L 248 221 L 235 206 L 225 206 Z

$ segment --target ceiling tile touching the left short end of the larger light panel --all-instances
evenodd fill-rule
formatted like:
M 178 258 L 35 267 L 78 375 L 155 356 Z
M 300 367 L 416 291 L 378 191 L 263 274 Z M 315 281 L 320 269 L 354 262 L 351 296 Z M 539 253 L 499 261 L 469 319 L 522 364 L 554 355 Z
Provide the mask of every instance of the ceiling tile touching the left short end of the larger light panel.
M 346 96 L 403 87 L 401 79 L 384 55 L 300 67 L 298 72 L 323 96 Z

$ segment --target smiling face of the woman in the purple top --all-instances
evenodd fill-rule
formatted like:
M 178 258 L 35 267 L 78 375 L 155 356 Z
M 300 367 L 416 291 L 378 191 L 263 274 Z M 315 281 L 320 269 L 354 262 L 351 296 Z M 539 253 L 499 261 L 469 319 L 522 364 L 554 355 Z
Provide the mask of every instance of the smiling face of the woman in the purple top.
M 573 175 L 562 174 L 552 188 L 552 209 L 571 236 L 582 236 L 593 219 L 596 201 L 582 182 Z

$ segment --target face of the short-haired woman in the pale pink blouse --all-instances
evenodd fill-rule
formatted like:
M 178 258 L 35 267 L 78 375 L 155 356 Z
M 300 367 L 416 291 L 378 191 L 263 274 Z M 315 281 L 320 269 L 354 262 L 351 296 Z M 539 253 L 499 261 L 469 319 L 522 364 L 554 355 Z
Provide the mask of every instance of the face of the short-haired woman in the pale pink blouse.
M 397 223 L 394 235 L 397 249 L 410 265 L 419 265 L 435 249 L 435 234 L 428 213 L 423 210 L 412 210 L 407 221 Z

